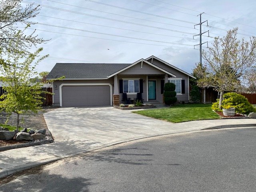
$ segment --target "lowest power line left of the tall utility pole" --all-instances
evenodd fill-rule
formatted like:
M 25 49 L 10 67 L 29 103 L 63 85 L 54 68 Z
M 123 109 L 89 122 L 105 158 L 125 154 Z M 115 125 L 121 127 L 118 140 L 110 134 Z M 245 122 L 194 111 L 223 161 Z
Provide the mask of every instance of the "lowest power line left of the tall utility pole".
M 24 28 L 24 27 L 19 27 L 19 28 Z M 72 35 L 72 36 L 87 37 L 87 38 L 94 38 L 94 39 L 117 41 L 117 42 L 135 43 L 135 44 L 144 44 L 144 45 L 153 45 L 153 46 L 163 46 L 163 47 L 174 47 L 174 48 L 182 48 L 182 49 L 194 49 L 194 48 L 188 48 L 188 47 L 177 47 L 177 46 L 168 46 L 168 45 L 159 45 L 159 44 L 148 44 L 148 43 L 140 43 L 140 42 L 130 42 L 130 41 L 123 41 L 123 40 L 115 40 L 115 39 L 106 39 L 106 38 L 84 36 L 84 35 L 76 35 L 76 34 L 69 34 L 69 33 L 62 33 L 62 32 L 54 32 L 54 31 L 40 30 L 40 29 L 33 29 L 33 28 L 28 28 L 28 29 L 44 31 L 44 32 L 50 32 L 50 33 L 56 33 L 56 34 L 64 34 L 64 35 Z

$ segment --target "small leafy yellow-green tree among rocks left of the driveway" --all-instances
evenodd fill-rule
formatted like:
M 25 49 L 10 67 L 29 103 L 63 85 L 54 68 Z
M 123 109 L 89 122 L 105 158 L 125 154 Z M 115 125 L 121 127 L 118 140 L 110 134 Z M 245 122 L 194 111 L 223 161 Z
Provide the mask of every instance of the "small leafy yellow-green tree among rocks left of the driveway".
M 20 33 L 17 34 L 19 37 Z M 10 42 L 11 49 L 7 49 L 7 59 L 2 56 L 0 59 L 0 80 L 4 83 L 3 89 L 6 93 L 2 94 L 0 99 L 0 108 L 9 115 L 12 112 L 17 114 L 16 132 L 18 132 L 20 114 L 25 112 L 38 112 L 42 104 L 41 84 L 32 82 L 32 77 L 36 76 L 37 64 L 46 58 L 42 56 L 36 62 L 35 58 L 42 51 L 39 48 L 34 53 L 28 53 L 18 48 L 19 41 Z M 17 47 L 13 49 L 13 47 Z M 34 62 L 34 63 L 33 63 Z M 50 92 L 47 92 L 51 94 Z

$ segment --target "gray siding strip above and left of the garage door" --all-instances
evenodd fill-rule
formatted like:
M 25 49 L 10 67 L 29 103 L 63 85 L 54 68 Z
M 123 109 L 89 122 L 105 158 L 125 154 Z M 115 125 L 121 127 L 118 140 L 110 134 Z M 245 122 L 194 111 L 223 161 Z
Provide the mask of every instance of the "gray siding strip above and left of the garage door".
M 110 78 L 107 80 L 62 80 L 62 81 L 54 81 L 53 83 L 53 105 L 60 106 L 60 85 L 61 84 L 82 84 L 82 83 L 110 83 L 114 84 L 114 78 Z M 56 86 L 56 87 L 55 87 Z M 114 89 L 112 89 L 114 90 Z

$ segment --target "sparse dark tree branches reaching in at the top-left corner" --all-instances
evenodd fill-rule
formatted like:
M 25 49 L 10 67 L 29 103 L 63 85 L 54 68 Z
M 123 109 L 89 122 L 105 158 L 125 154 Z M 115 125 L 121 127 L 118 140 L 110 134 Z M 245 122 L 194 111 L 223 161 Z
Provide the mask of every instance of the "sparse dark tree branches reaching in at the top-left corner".
M 15 4 L 15 6 L 10 6 L 8 2 Z M 2 54 L 5 54 L 6 50 L 14 49 L 16 44 L 18 44 L 20 50 L 26 52 L 32 45 L 36 46 L 47 41 L 34 35 L 35 30 L 30 34 L 25 33 L 24 30 L 18 30 L 18 26 L 22 24 L 24 27 L 35 24 L 30 22 L 29 19 L 34 18 L 40 10 L 40 7 L 34 6 L 34 4 L 22 7 L 20 3 L 21 0 L 2 0 L 0 6 L 0 50 L 3 51 Z M 13 42 L 13 46 L 10 46 L 10 41 Z

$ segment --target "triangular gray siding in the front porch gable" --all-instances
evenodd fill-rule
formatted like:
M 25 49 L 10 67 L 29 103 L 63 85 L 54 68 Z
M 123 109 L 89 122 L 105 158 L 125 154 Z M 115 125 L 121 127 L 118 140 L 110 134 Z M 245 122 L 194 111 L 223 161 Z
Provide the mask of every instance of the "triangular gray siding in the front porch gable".
M 150 66 L 149 64 L 143 62 L 141 68 L 141 62 L 122 71 L 119 75 L 148 75 L 148 74 L 165 74 L 164 72 Z

